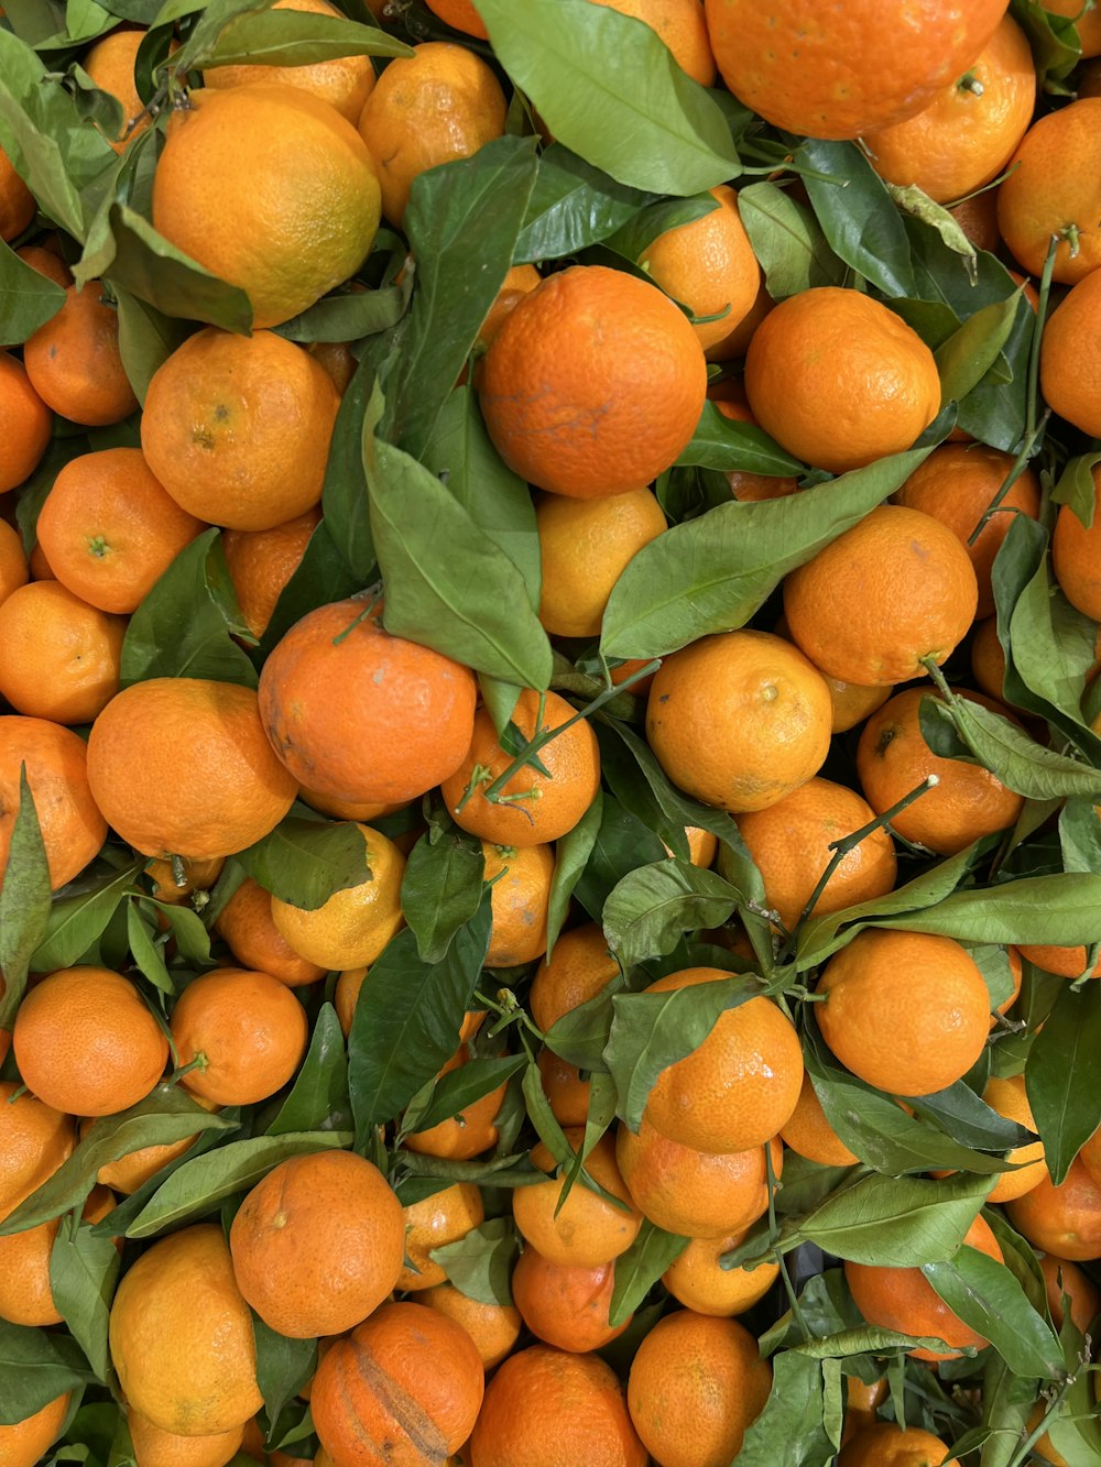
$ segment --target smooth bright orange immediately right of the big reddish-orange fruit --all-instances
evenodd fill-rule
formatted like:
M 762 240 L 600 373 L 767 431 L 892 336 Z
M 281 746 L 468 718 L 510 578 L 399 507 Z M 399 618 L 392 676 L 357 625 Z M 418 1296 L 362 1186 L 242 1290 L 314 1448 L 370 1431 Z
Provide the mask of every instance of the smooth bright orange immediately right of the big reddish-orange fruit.
M 781 301 L 746 352 L 753 417 L 815 468 L 844 474 L 909 449 L 941 408 L 937 362 L 894 311 L 818 286 Z

